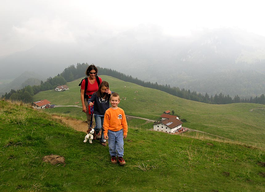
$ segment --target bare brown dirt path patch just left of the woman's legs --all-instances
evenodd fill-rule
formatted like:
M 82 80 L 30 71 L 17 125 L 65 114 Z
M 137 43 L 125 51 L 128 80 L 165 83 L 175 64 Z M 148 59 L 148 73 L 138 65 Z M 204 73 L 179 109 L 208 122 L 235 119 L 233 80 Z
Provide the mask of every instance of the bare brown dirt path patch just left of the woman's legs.
M 59 115 L 52 115 L 52 116 L 55 117 L 56 119 L 61 120 L 62 123 L 72 127 L 76 131 L 83 131 L 86 133 L 88 130 L 87 121 L 77 120 L 71 117 L 62 117 Z

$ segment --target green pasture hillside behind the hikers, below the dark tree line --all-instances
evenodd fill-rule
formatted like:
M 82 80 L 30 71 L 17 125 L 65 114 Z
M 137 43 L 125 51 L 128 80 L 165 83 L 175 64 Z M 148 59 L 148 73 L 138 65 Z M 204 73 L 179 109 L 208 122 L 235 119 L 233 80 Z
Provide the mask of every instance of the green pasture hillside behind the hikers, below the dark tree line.
M 211 105 L 191 100 L 181 99 L 156 89 L 145 88 L 129 82 L 101 76 L 110 84 L 110 89 L 119 93 L 121 102 L 119 106 L 126 115 L 145 117 L 159 120 L 159 116 L 166 110 L 174 110 L 180 119 L 186 119 L 184 127 L 205 131 L 219 135 L 233 141 L 265 147 L 265 106 L 261 104 L 226 104 Z M 40 92 L 34 96 L 36 101 L 47 99 L 51 104 L 79 105 L 81 79 L 67 83 L 69 90 L 56 92 L 55 90 Z M 124 100 L 123 98 L 126 98 Z M 79 101 L 79 104 L 75 102 Z M 85 120 L 81 108 L 55 108 L 52 112 L 65 113 Z M 191 134 L 191 133 L 186 133 Z

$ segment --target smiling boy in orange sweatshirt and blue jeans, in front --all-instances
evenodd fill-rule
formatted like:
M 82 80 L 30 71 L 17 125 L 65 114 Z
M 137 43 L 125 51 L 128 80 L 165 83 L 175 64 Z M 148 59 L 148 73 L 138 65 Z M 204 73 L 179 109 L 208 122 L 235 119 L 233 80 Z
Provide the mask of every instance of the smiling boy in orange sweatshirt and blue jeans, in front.
M 128 125 L 123 109 L 118 107 L 120 96 L 117 93 L 111 94 L 110 103 L 111 108 L 106 110 L 104 116 L 104 139 L 108 139 L 111 163 L 116 164 L 116 156 L 118 156 L 120 165 L 125 165 L 123 159 L 123 138 L 127 137 Z

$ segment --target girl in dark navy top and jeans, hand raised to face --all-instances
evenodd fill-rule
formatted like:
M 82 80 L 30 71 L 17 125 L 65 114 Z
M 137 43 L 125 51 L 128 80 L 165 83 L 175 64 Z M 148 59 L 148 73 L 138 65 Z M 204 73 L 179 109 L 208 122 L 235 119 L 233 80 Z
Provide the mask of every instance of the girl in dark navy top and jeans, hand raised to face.
M 106 110 L 109 108 L 109 99 L 111 94 L 112 92 L 109 90 L 108 82 L 102 81 L 98 91 L 94 92 L 88 100 L 88 104 L 90 106 L 94 105 L 94 118 L 96 122 L 95 131 L 97 136 L 103 126 L 104 115 Z M 100 143 L 103 146 L 107 146 L 103 131 L 104 130 L 101 130 Z

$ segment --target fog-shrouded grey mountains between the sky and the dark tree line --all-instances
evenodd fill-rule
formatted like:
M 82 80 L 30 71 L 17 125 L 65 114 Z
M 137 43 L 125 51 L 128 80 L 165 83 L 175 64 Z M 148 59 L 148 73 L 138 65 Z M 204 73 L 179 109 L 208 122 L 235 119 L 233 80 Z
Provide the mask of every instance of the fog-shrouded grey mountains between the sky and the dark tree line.
M 250 97 L 265 92 L 265 37 L 244 31 L 206 30 L 180 38 L 165 36 L 156 26 L 139 25 L 96 46 L 85 44 L 89 41 L 38 45 L 1 58 L 0 76 L 18 76 L 32 69 L 54 76 L 69 65 L 88 62 L 203 94 Z

